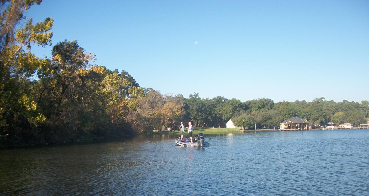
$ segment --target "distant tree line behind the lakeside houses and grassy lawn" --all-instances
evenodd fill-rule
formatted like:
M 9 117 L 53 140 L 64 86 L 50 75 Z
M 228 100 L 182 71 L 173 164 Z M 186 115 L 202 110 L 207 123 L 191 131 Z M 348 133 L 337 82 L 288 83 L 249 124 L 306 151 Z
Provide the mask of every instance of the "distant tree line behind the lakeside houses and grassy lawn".
M 145 97 L 132 113 L 137 121 L 137 124 L 132 125 L 140 131 L 150 131 L 151 126 L 159 122 L 154 127 L 161 126 L 162 130 L 164 127 L 176 127 L 181 121 L 191 121 L 195 127 L 223 127 L 230 119 L 238 127 L 244 126 L 246 129 L 255 128 L 255 120 L 258 129 L 278 129 L 283 120 L 294 116 L 306 118 L 318 126 L 326 126 L 328 122 L 359 125 L 368 123 L 369 115 L 369 102 L 366 100 L 361 103 L 347 100 L 336 103 L 320 97 L 310 103 L 305 100 L 274 103 L 265 98 L 241 102 L 238 99 L 225 99 L 223 96 L 201 99 L 196 92 L 189 99 L 181 94 L 174 97 L 171 94 L 162 96 L 154 90 Z M 152 104 L 153 102 L 160 104 Z M 150 106 L 155 106 L 156 109 Z M 150 110 L 150 113 L 146 113 Z M 158 119 L 150 118 L 159 111 Z

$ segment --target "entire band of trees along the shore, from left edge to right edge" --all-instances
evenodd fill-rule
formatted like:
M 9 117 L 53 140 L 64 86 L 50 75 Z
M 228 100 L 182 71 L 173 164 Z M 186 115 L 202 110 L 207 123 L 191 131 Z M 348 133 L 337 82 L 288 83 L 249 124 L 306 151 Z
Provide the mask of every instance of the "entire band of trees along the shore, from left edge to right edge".
M 0 146 L 42 144 L 150 133 L 191 121 L 196 127 L 223 125 L 232 119 L 246 128 L 279 126 L 293 116 L 316 124 L 366 123 L 368 101 L 340 103 L 324 97 L 278 102 L 241 102 L 217 96 L 201 99 L 194 92 L 161 94 L 140 87 L 125 71 L 90 62 L 95 55 L 77 41 L 52 47 L 51 57 L 38 58 L 34 45 L 51 45 L 54 21 L 34 24 L 24 12 L 41 0 L 0 2 Z

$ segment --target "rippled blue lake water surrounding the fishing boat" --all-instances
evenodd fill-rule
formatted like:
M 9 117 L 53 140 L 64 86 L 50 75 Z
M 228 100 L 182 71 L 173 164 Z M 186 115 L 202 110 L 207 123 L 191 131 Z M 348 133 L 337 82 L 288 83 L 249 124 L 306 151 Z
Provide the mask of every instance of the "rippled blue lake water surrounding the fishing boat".
M 0 150 L 0 195 L 369 195 L 369 130 L 177 135 Z

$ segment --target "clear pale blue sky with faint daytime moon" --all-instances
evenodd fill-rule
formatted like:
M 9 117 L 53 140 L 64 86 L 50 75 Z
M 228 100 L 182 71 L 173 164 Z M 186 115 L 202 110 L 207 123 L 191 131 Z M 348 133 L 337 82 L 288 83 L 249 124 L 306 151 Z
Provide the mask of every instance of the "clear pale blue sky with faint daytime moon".
M 367 0 L 44 0 L 27 15 L 162 94 L 369 100 Z

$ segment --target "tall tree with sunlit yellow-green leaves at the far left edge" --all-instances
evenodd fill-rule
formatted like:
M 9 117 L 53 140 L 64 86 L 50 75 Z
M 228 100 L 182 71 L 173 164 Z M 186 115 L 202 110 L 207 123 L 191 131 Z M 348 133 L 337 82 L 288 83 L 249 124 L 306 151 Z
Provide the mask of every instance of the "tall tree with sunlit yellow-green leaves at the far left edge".
M 31 45 L 51 45 L 51 18 L 33 24 L 24 13 L 41 0 L 2 0 L 0 2 L 0 145 L 23 140 L 45 117 L 31 99 L 31 76 L 48 64 L 32 54 Z

